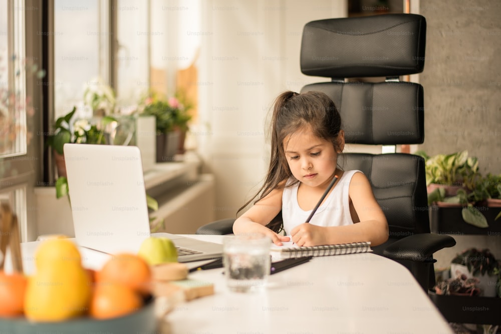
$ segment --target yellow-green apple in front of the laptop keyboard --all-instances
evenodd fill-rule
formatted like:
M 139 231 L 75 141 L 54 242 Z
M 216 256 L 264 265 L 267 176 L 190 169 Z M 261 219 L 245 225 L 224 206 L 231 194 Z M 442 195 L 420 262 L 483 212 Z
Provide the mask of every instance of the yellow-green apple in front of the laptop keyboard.
M 150 265 L 177 262 L 177 249 L 172 240 L 165 237 L 148 237 L 139 247 L 138 255 Z

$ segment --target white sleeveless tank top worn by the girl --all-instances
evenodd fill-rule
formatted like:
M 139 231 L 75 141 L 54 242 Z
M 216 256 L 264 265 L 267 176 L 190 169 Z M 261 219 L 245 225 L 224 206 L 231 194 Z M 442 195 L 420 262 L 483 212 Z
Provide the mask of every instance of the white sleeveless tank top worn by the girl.
M 317 212 L 310 220 L 311 224 L 318 226 L 343 226 L 353 224 L 350 215 L 349 189 L 353 175 L 359 170 L 345 171 L 334 189 L 319 206 Z M 287 184 L 293 179 L 287 180 Z M 291 230 L 304 223 L 312 210 L 301 209 L 298 203 L 299 183 L 293 187 L 285 188 L 282 194 L 282 218 L 286 235 L 291 234 Z M 320 198 L 319 198 L 320 200 Z

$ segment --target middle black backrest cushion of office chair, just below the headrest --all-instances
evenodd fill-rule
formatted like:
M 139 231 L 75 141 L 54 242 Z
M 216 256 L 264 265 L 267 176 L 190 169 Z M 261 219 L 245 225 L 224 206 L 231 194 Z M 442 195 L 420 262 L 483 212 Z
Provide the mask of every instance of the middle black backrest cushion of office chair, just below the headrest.
M 327 94 L 341 115 L 348 144 L 397 145 L 424 141 L 423 87 L 409 82 L 316 83 L 301 90 Z

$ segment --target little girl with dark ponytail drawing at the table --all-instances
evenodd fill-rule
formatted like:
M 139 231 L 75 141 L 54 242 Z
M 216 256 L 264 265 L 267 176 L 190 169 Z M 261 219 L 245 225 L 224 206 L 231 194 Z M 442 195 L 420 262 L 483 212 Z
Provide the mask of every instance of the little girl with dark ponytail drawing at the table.
M 357 241 L 376 246 L 388 239 L 386 217 L 367 177 L 338 167 L 344 132 L 339 112 L 326 94 L 282 93 L 275 101 L 271 131 L 266 180 L 238 210 L 257 198 L 235 220 L 235 234 L 261 232 L 277 245 L 292 239 L 299 246 Z M 306 223 L 334 176 L 334 187 Z M 287 236 L 279 234 L 282 229 Z

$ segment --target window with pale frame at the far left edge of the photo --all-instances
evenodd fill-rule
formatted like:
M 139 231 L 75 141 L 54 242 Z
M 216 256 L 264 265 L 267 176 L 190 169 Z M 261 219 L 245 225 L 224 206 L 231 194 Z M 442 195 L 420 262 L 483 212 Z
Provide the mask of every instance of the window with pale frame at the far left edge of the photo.
M 36 228 L 29 228 L 29 222 L 35 222 L 35 210 L 33 191 L 28 188 L 33 189 L 40 161 L 33 127 L 40 111 L 33 106 L 40 101 L 35 82 L 43 76 L 41 57 L 33 53 L 40 38 L 35 36 L 35 31 L 41 31 L 35 15 L 40 5 L 28 3 L 0 0 L 0 201 L 18 216 L 21 241 L 33 240 L 36 233 Z

